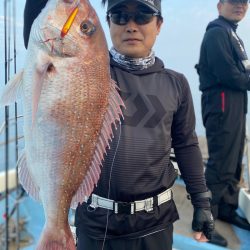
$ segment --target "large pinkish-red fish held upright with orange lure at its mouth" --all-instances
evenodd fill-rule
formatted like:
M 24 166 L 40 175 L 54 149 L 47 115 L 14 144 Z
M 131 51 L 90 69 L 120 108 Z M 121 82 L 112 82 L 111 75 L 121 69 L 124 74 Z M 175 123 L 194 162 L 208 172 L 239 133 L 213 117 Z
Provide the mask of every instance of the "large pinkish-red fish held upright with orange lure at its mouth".
M 33 23 L 24 70 L 8 83 L 2 104 L 17 95 L 25 136 L 19 177 L 42 202 L 46 218 L 37 249 L 75 249 L 68 211 L 97 183 L 123 105 L 88 0 L 48 1 Z

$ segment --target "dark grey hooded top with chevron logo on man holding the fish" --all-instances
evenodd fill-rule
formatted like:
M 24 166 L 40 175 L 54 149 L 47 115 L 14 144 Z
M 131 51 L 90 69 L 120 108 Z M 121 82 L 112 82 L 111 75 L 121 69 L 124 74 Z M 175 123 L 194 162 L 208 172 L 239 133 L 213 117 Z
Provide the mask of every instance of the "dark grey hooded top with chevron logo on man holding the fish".
M 176 178 L 170 163 L 171 146 L 188 192 L 205 192 L 193 102 L 185 77 L 165 69 L 158 58 L 151 68 L 133 72 L 111 60 L 111 73 L 125 101 L 125 119 L 115 130 L 93 192 L 106 198 L 110 192 L 110 199 L 132 202 L 155 196 L 171 187 Z M 206 207 L 208 201 L 195 205 Z M 76 212 L 77 230 L 101 239 L 106 216 L 107 210 L 98 208 L 89 212 L 88 204 L 83 203 Z M 116 215 L 110 212 L 107 238 L 140 237 L 162 230 L 177 219 L 174 201 L 156 207 L 151 213 Z

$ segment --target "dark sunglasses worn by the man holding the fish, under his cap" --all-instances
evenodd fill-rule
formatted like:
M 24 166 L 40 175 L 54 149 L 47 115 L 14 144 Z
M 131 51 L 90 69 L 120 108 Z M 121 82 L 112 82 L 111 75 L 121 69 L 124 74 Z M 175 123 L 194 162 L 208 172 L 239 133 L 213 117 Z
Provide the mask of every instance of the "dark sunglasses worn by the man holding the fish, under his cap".
M 112 23 L 117 25 L 126 25 L 129 20 L 132 18 L 133 21 L 138 25 L 148 24 L 152 21 L 154 16 L 160 16 L 159 13 L 150 13 L 150 12 L 112 12 L 108 14 Z

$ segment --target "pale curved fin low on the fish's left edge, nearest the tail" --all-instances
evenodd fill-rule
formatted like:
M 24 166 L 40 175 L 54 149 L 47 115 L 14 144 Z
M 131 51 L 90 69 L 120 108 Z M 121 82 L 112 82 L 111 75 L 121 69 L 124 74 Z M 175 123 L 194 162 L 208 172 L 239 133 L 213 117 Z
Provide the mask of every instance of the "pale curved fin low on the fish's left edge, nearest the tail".
M 20 183 L 22 184 L 25 191 L 32 196 L 35 200 L 40 201 L 39 197 L 39 187 L 35 184 L 34 179 L 31 176 L 30 170 L 28 168 L 27 158 L 25 151 L 20 155 L 18 162 L 18 176 Z

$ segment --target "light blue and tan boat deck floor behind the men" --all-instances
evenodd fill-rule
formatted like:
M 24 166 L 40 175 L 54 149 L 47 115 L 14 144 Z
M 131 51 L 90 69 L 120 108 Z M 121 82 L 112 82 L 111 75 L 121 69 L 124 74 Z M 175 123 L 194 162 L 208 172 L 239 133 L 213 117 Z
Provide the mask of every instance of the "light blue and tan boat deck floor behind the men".
M 207 159 L 207 148 L 206 141 L 200 138 L 200 147 L 202 151 L 203 159 Z M 174 244 L 173 248 L 175 250 L 249 250 L 250 249 L 250 231 L 240 229 L 236 226 L 232 226 L 228 223 L 217 220 L 216 230 L 224 236 L 228 241 L 228 247 L 223 248 L 210 243 L 198 243 L 192 238 L 191 221 L 193 217 L 193 207 L 191 202 L 186 198 L 187 193 L 185 189 L 184 182 L 181 178 L 176 180 L 173 188 L 174 200 L 179 211 L 180 220 L 174 223 Z M 11 196 L 10 196 L 11 197 Z M 13 197 L 15 195 L 13 194 Z M 1 197 L 0 197 L 1 198 Z M 15 200 L 10 198 L 10 209 L 13 207 Z M 249 202 L 248 202 L 249 203 Z M 242 211 L 239 209 L 238 212 L 243 215 Z M 0 213 L 4 214 L 4 200 L 0 199 Z M 20 202 L 20 242 L 21 249 L 33 250 L 39 236 L 42 231 L 44 224 L 44 213 L 42 206 L 37 202 L 33 201 L 28 196 L 25 196 Z M 244 216 L 244 215 L 243 215 Z M 10 221 L 10 231 L 12 238 L 15 237 L 15 221 Z M 3 247 L 4 237 L 4 219 L 0 218 L 0 250 L 5 250 Z M 17 250 L 15 241 L 10 242 L 9 250 Z

